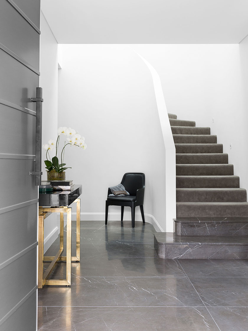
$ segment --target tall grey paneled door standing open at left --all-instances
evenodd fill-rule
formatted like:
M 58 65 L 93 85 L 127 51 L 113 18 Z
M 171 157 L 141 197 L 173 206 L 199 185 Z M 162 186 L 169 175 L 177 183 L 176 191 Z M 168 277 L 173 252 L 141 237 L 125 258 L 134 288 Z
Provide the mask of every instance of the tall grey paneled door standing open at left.
M 0 0 L 0 331 L 35 331 L 40 0 Z

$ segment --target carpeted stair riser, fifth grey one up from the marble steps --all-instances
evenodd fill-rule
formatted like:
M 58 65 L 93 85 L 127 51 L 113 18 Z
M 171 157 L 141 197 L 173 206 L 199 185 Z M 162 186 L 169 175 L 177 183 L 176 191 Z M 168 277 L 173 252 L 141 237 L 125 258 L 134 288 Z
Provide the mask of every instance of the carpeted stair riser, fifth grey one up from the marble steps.
M 227 164 L 228 154 L 176 154 L 176 164 Z

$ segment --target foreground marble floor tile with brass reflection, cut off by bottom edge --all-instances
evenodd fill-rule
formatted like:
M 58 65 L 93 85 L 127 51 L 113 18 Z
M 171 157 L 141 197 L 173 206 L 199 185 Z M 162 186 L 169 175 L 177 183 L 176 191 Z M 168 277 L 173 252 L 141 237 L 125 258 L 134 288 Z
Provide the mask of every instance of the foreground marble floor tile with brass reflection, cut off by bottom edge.
M 219 330 L 204 307 L 38 307 L 38 318 L 42 331 Z

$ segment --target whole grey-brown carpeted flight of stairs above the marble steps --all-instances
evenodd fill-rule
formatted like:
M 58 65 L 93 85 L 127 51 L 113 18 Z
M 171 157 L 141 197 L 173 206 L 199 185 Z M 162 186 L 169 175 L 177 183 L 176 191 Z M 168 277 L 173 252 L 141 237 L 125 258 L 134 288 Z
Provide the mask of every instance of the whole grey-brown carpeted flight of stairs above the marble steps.
M 177 217 L 248 217 L 246 190 L 209 127 L 168 114 L 176 147 Z

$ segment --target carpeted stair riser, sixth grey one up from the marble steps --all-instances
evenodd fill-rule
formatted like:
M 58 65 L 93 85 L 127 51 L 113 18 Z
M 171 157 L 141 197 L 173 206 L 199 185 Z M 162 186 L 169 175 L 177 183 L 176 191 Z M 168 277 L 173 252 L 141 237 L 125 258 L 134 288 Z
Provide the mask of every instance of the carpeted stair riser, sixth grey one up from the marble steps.
M 178 154 L 223 153 L 222 144 L 175 144 L 175 147 Z

